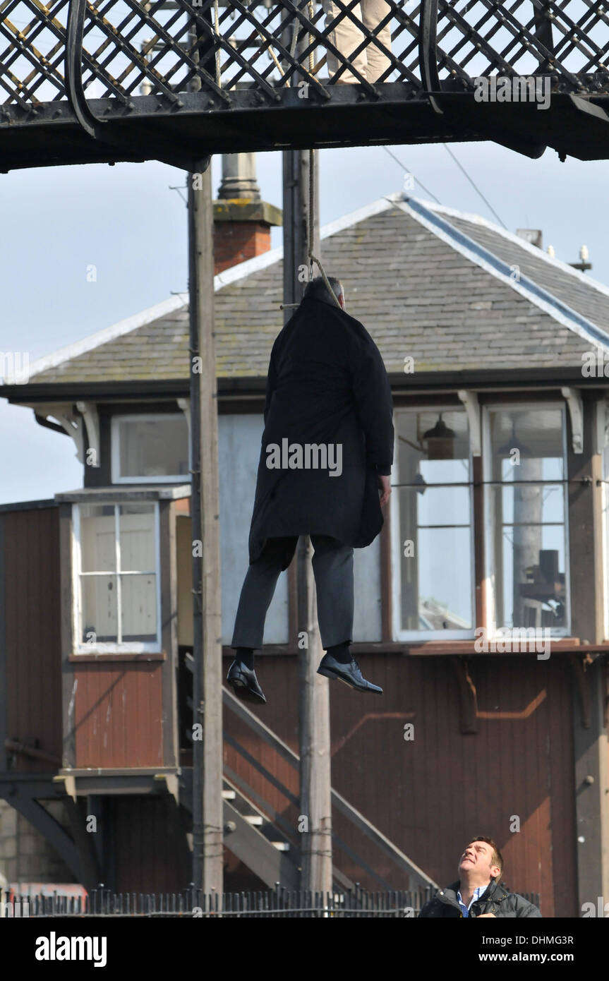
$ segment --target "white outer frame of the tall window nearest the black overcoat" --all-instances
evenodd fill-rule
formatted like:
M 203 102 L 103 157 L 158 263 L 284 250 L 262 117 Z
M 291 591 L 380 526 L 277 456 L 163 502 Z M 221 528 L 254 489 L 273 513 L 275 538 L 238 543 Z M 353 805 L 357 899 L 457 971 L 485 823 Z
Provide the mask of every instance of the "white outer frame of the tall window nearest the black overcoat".
M 395 422 L 395 445 L 393 451 L 393 478 L 395 483 L 399 485 L 399 439 L 398 439 L 398 425 L 397 425 L 397 415 L 399 413 L 417 413 L 417 412 L 462 412 L 467 420 L 469 442 L 470 442 L 470 568 L 472 569 L 472 595 L 471 595 L 471 610 L 472 610 L 472 627 L 465 630 L 402 630 L 400 626 L 400 610 L 401 610 L 401 593 L 402 593 L 402 564 L 401 564 L 401 552 L 403 544 L 400 541 L 400 515 L 399 515 L 399 487 L 396 487 L 397 493 L 393 494 L 393 501 L 390 508 L 390 532 L 391 532 L 391 609 L 392 609 L 392 637 L 395 642 L 404 641 L 419 641 L 424 643 L 425 641 L 468 641 L 473 640 L 475 637 L 476 630 L 476 554 L 475 554 L 475 533 L 476 529 L 474 527 L 474 457 L 472 453 L 472 432 L 470 428 L 470 420 L 468 413 L 463 405 L 453 404 L 442 404 L 442 405 L 416 405 L 416 406 L 399 406 L 394 410 L 394 422 Z

